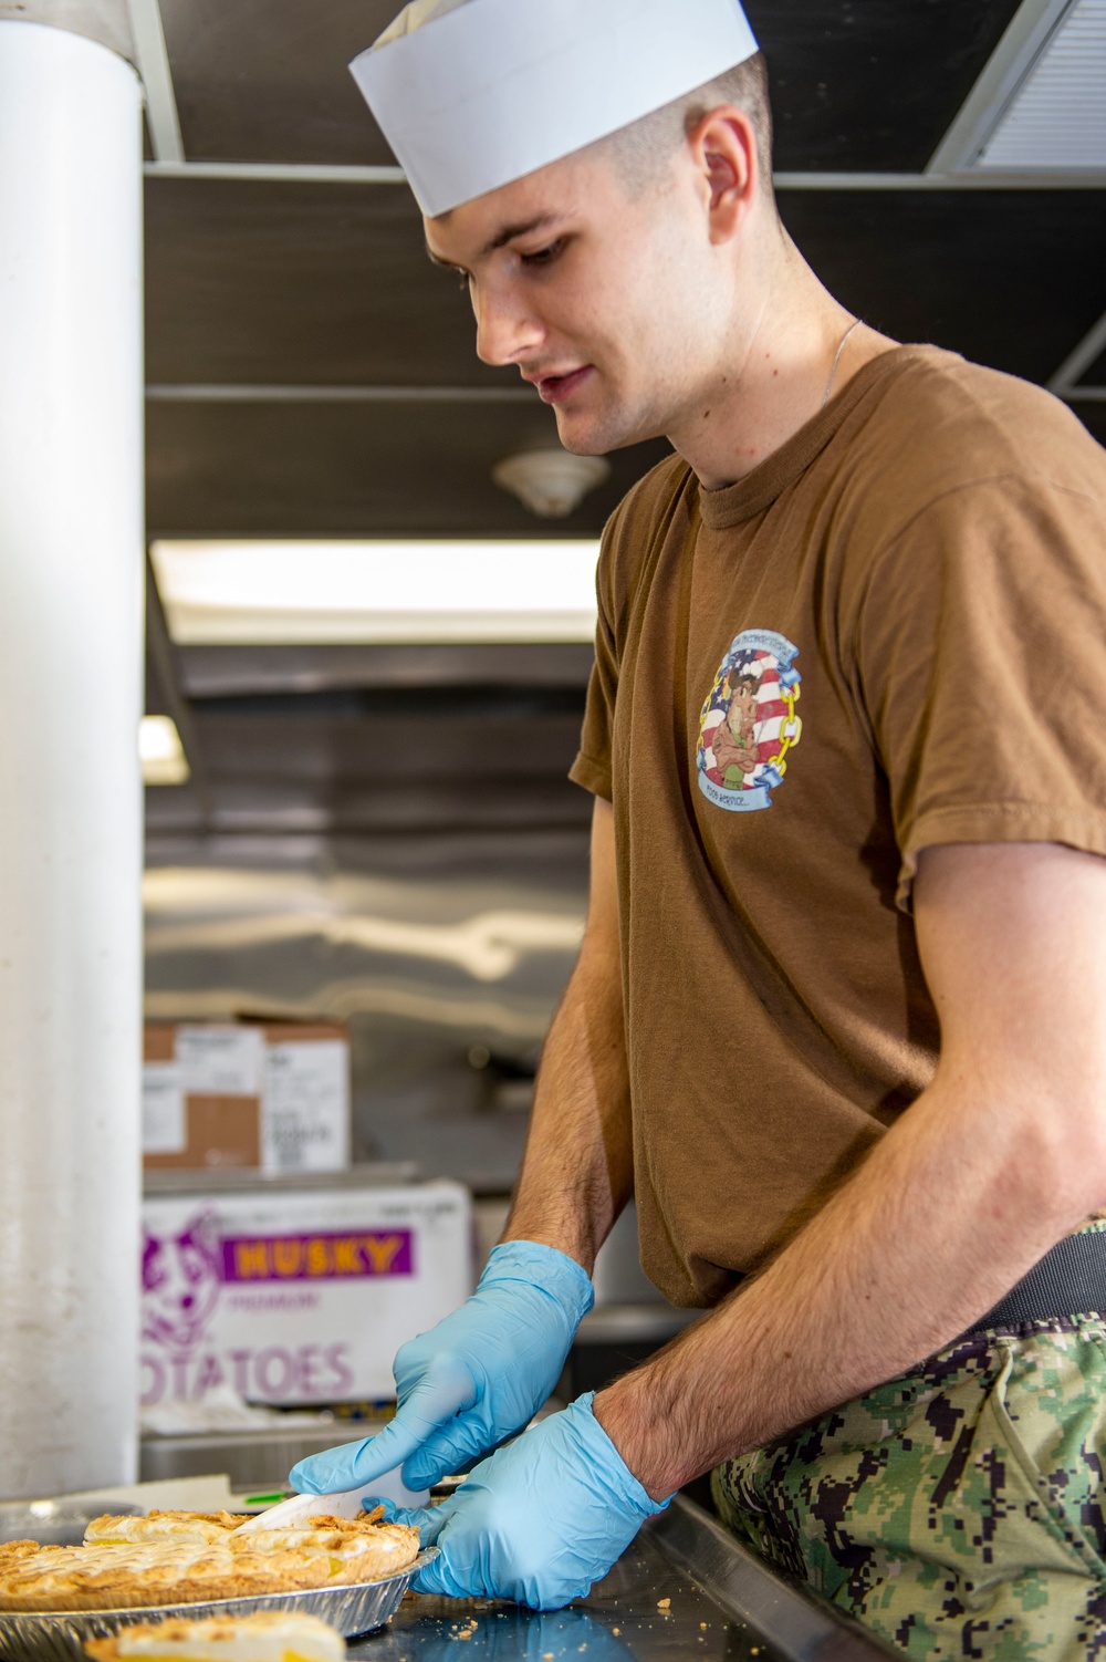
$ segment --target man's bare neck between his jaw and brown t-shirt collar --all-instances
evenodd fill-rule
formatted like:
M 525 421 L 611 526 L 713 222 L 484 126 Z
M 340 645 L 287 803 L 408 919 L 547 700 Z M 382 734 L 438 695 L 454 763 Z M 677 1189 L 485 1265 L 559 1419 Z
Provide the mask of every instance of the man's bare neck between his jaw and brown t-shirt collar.
M 704 490 L 734 485 L 779 450 L 874 357 L 897 342 L 869 329 L 789 251 L 766 273 L 757 321 L 736 331 L 727 364 L 669 442 Z

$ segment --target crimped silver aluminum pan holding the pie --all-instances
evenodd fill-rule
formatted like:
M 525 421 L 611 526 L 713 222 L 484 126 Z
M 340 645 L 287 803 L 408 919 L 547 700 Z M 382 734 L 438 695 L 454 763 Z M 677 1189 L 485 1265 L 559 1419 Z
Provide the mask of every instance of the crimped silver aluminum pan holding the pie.
M 302 1592 L 271 1592 L 259 1599 L 214 1599 L 209 1604 L 128 1605 L 125 1610 L 0 1610 L 0 1655 L 13 1662 L 88 1662 L 86 1639 L 110 1639 L 133 1622 L 183 1617 L 189 1622 L 213 1615 L 256 1615 L 284 1610 L 319 1615 L 345 1637 L 369 1634 L 395 1615 L 412 1581 L 437 1547 L 420 1552 L 414 1564 L 352 1587 L 307 1587 Z

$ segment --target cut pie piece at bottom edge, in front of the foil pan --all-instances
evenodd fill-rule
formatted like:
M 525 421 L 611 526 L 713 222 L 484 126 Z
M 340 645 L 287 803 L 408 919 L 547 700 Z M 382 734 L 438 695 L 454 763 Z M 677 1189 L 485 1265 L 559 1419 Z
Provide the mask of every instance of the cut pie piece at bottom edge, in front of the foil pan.
M 266 1612 L 208 1622 L 135 1622 L 86 1639 L 93 1662 L 344 1662 L 345 1640 L 317 1615 Z

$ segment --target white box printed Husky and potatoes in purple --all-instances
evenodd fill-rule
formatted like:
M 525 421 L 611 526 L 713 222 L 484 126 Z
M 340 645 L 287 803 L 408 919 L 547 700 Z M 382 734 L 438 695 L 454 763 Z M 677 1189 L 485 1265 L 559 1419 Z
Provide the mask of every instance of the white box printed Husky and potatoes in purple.
M 394 1398 L 399 1346 L 472 1291 L 468 1190 L 153 1195 L 141 1278 L 144 1406 Z

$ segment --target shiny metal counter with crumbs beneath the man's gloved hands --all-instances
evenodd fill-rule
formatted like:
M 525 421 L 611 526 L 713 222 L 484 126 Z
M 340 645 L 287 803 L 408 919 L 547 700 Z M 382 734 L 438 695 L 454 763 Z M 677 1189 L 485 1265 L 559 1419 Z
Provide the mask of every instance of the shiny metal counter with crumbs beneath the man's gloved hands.
M 462 1647 L 458 1650 L 458 1647 Z M 409 1597 L 350 1645 L 367 1662 L 887 1662 L 902 1652 L 746 1552 L 679 1496 L 568 1610 Z

